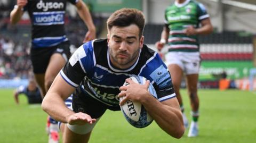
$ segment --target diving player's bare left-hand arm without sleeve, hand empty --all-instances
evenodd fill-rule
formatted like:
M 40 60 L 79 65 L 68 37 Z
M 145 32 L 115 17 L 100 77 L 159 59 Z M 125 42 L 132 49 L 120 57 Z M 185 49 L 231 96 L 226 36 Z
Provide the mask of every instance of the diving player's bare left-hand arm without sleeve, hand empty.
M 69 124 L 92 124 L 96 119 L 92 119 L 90 115 L 79 112 L 75 113 L 65 105 L 65 100 L 75 91 L 60 74 L 54 79 L 52 86 L 45 95 L 42 108 L 53 119 Z

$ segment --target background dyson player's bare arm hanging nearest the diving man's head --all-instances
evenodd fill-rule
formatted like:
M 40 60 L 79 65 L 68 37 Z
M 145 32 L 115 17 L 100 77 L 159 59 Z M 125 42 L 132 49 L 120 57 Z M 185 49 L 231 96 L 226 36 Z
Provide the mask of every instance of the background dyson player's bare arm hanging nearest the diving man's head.
M 85 5 L 85 3 L 82 0 L 78 0 L 76 3 L 77 7 L 77 13 L 81 17 L 81 19 L 86 24 L 88 31 L 84 37 L 83 43 L 86 43 L 87 41 L 93 40 L 96 38 L 96 29 L 93 24 L 92 16 L 90 14 L 90 11 L 88 7 Z

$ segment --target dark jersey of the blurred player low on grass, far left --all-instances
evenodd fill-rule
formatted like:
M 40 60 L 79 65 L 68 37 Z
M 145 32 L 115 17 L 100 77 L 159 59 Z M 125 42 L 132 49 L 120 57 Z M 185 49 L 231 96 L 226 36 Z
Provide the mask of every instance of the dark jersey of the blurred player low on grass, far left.
M 25 94 L 29 104 L 42 103 L 42 97 L 38 87 L 35 91 L 29 91 L 27 86 L 20 86 L 17 89 L 16 94 Z

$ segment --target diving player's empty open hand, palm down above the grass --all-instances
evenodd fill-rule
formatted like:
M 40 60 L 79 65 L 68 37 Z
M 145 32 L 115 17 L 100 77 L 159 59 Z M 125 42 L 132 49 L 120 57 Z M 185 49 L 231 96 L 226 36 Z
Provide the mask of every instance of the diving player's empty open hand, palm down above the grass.
M 71 125 L 78 124 L 83 125 L 86 123 L 93 124 L 96 119 L 92 119 L 92 117 L 88 114 L 79 112 L 68 116 L 67 122 Z

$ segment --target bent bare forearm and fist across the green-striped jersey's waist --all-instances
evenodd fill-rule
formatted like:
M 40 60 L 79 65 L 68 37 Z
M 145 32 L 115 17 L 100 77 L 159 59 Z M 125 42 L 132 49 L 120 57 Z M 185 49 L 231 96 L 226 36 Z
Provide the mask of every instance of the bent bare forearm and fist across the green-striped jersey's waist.
M 210 21 L 210 18 L 204 19 L 201 21 L 200 28 L 194 28 L 193 26 L 189 26 L 187 29 L 184 30 L 187 36 L 190 35 L 206 35 L 210 34 L 213 31 L 213 27 Z

